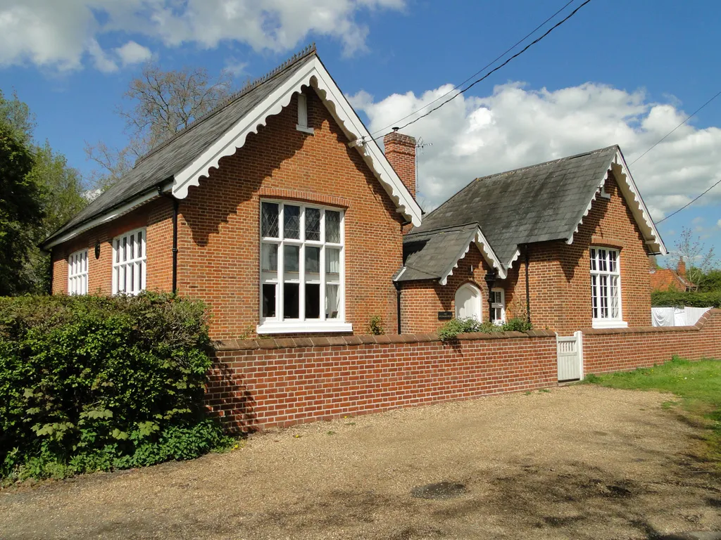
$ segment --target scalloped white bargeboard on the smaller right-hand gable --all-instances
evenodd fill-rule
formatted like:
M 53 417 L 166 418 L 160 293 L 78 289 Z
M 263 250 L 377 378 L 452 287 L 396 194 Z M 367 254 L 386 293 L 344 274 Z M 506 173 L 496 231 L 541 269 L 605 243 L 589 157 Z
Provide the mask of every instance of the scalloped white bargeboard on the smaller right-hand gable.
M 621 150 L 618 150 L 616 152 L 616 156 L 614 156 L 614 161 L 611 163 L 610 170 L 614 173 L 614 176 L 616 177 L 616 182 L 619 184 L 619 189 L 624 195 L 624 199 L 626 199 L 626 202 L 631 209 L 631 213 L 633 214 L 634 219 L 636 220 L 639 228 L 641 229 L 641 233 L 646 240 L 646 244 L 652 251 L 660 253 L 661 255 L 667 255 L 668 250 L 663 244 L 663 240 L 658 234 L 658 230 L 656 230 L 656 225 L 651 219 L 651 214 L 646 207 L 646 203 L 643 202 L 641 194 L 638 191 L 638 187 L 636 186 L 636 182 L 634 182 L 633 176 L 631 176 L 631 172 L 629 171 L 626 160 L 624 159 L 624 155 L 621 153 Z M 588 215 L 588 212 L 590 212 L 591 205 L 596 200 L 598 193 L 601 189 L 603 189 L 603 185 L 606 184 L 606 180 L 608 179 L 609 171 L 606 171 L 606 174 L 603 175 L 603 179 L 601 179 L 601 182 L 598 184 L 598 189 L 596 189 L 596 192 L 593 193 L 593 197 L 591 197 L 590 201 L 588 202 L 588 206 L 586 207 L 585 212 L 583 212 L 583 216 L 581 216 L 580 220 L 578 221 L 574 232 L 571 233 L 571 235 L 567 238 L 567 244 L 573 243 L 573 235 L 575 235 L 575 233 L 578 233 L 578 228 L 583 223 L 583 218 Z

